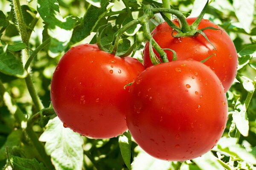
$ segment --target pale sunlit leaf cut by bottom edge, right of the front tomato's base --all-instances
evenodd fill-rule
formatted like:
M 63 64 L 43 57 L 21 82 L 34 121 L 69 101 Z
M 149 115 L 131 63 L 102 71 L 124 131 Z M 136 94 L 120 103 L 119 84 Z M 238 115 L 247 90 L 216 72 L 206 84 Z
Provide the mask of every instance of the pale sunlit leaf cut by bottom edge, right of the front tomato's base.
M 212 152 L 207 152 L 203 156 L 193 159 L 193 162 L 202 170 L 224 170 L 224 167 L 219 163 Z

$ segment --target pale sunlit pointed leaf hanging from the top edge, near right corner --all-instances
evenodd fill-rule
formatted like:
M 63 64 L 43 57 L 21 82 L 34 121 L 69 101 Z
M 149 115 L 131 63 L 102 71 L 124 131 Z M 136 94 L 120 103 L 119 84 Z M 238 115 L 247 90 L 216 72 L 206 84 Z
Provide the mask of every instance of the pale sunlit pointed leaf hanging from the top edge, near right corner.
M 236 17 L 247 33 L 250 33 L 250 26 L 253 22 L 255 0 L 233 0 Z

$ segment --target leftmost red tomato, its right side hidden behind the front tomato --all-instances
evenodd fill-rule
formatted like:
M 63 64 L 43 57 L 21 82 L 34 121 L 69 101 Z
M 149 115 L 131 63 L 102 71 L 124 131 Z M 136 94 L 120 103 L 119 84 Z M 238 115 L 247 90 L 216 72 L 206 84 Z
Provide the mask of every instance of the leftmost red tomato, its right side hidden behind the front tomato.
M 93 138 L 111 138 L 127 130 L 128 88 L 144 70 L 131 57 L 116 57 L 97 45 L 72 47 L 52 77 L 51 100 L 64 127 Z

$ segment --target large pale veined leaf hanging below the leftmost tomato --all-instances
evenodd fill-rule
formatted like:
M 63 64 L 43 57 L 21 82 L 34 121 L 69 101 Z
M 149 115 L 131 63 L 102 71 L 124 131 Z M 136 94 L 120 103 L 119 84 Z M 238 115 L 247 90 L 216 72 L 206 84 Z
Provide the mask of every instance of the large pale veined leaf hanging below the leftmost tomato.
M 55 117 L 40 136 L 46 142 L 45 150 L 51 156 L 56 169 L 81 170 L 83 164 L 83 140 L 78 133 L 64 128 L 63 123 Z

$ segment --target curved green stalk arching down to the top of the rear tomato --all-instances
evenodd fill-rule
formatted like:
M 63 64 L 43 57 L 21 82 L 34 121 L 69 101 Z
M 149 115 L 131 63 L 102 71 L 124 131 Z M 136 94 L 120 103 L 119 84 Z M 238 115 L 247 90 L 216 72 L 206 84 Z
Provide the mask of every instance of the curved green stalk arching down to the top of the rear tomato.
M 159 13 L 160 11 L 163 13 L 169 13 L 175 15 L 179 20 L 182 26 L 182 32 L 186 33 L 191 31 L 189 24 L 186 21 L 186 17 L 182 14 L 182 12 L 177 11 L 175 9 L 167 9 L 167 8 L 158 8 L 158 9 L 151 9 L 154 14 Z

